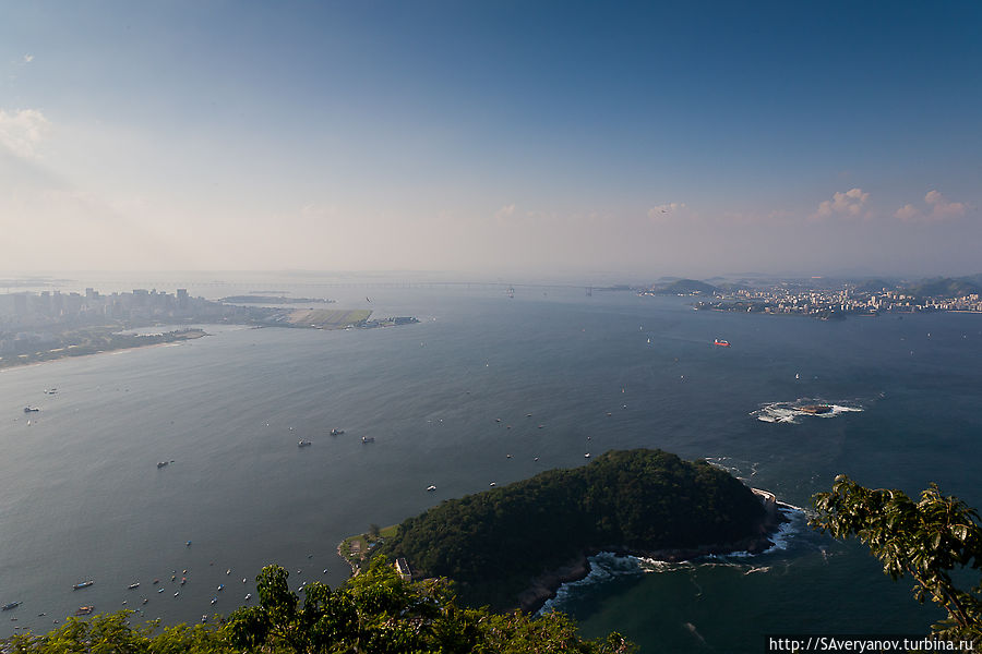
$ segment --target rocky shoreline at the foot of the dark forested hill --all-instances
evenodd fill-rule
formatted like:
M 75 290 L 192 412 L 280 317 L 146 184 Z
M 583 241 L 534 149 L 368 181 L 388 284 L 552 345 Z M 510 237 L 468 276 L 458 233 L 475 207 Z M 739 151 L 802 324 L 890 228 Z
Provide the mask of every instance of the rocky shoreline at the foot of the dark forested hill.
M 788 522 L 788 519 L 781 514 L 780 509 L 791 509 L 792 507 L 776 501 L 774 495 L 769 493 L 757 492 L 756 489 L 755 493 L 762 496 L 762 500 L 767 508 L 767 514 L 761 521 L 758 533 L 755 536 L 743 538 L 735 543 L 700 545 L 687 548 L 646 550 L 611 546 L 585 549 L 567 564 L 532 579 L 529 586 L 518 594 L 518 607 L 529 614 L 538 611 L 546 602 L 555 597 L 560 586 L 564 583 L 579 581 L 587 577 L 590 573 L 589 557 L 601 552 L 608 552 L 615 556 L 635 556 L 669 562 L 688 561 L 703 556 L 726 555 L 734 552 L 762 554 L 774 546 L 774 541 L 770 540 L 770 536 L 780 529 L 781 524 Z

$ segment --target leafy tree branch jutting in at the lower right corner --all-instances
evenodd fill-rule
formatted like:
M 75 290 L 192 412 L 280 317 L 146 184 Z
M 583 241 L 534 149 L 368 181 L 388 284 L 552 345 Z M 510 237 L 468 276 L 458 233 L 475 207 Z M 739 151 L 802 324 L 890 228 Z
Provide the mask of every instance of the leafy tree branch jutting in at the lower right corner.
M 982 568 L 982 526 L 974 509 L 942 495 L 936 484 L 913 501 L 900 491 L 865 488 L 846 475 L 813 501 L 812 526 L 836 538 L 859 537 L 885 574 L 917 581 L 918 602 L 931 597 L 944 607 L 948 617 L 933 626 L 939 637 L 982 642 L 982 579 L 968 591 L 951 580 L 956 569 Z

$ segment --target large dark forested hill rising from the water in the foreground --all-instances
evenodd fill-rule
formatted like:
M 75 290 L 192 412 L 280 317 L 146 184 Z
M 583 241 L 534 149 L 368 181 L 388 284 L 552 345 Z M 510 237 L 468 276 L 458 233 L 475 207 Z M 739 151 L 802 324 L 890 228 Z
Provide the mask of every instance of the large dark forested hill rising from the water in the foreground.
M 535 610 L 585 577 L 599 552 L 661 560 L 758 553 L 781 521 L 773 495 L 726 471 L 636 449 L 445 500 L 399 524 L 378 552 L 404 559 L 414 577 L 453 579 L 465 604 Z

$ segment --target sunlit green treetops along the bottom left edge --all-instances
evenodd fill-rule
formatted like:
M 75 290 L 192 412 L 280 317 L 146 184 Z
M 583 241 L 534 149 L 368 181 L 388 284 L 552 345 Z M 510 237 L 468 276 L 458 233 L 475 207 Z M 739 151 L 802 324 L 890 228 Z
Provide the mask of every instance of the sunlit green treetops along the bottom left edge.
M 532 618 L 456 605 L 445 580 L 406 582 L 378 557 L 361 574 L 332 591 L 314 582 L 303 601 L 289 573 L 268 566 L 256 578 L 260 605 L 242 607 L 224 625 L 180 625 L 154 635 L 157 623 L 132 627 L 132 611 L 70 618 L 46 635 L 11 639 L 12 653 L 225 654 L 232 652 L 371 654 L 525 654 L 633 652 L 620 634 L 588 641 L 558 613 Z

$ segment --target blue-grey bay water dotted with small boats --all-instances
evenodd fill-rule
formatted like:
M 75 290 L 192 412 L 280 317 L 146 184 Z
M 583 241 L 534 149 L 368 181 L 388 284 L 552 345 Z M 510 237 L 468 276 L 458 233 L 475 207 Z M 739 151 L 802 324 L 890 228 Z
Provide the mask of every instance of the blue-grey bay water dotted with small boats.
M 228 614 L 270 562 L 295 586 L 336 585 L 348 574 L 337 543 L 370 523 L 611 448 L 710 458 L 802 507 L 838 473 L 909 493 L 936 481 L 982 507 L 979 315 L 821 323 L 583 289 L 375 289 L 371 305 L 357 289 L 295 289 L 313 293 L 421 323 L 208 326 L 179 346 L 0 372 L 0 604 L 23 602 L 0 637 L 48 630 L 80 605 L 127 603 L 165 623 Z M 837 410 L 789 422 L 785 403 L 805 399 Z M 596 569 L 554 605 L 586 635 L 616 629 L 644 652 L 917 633 L 938 617 L 861 547 L 800 519 L 757 557 L 600 557 Z

